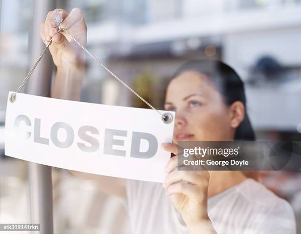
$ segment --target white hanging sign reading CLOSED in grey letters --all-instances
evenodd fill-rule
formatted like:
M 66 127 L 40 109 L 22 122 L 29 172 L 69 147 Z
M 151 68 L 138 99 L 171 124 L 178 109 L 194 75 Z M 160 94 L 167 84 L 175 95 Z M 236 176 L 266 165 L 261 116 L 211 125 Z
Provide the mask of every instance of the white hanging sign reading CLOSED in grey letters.
M 9 95 L 12 92 L 9 93 Z M 175 118 L 174 112 L 170 113 Z M 173 119 L 174 119 L 173 118 Z M 7 101 L 5 155 L 58 168 L 163 182 L 174 121 L 151 109 L 17 93 Z

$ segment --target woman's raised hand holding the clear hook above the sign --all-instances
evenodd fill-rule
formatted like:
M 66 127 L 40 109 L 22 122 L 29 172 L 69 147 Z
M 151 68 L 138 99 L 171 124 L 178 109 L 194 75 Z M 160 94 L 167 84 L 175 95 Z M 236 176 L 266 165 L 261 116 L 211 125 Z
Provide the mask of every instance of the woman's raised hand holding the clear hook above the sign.
M 68 14 L 62 11 L 61 27 L 67 29 L 83 46 L 87 44 L 87 25 L 84 14 L 79 8 L 73 8 Z M 66 34 L 59 32 L 57 23 L 52 17 L 53 11 L 49 11 L 45 22 L 40 25 L 40 36 L 45 44 L 52 39 L 49 47 L 55 65 L 58 70 L 77 70 L 84 66 L 84 51 Z

